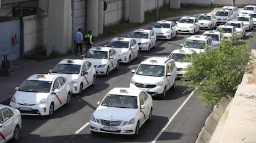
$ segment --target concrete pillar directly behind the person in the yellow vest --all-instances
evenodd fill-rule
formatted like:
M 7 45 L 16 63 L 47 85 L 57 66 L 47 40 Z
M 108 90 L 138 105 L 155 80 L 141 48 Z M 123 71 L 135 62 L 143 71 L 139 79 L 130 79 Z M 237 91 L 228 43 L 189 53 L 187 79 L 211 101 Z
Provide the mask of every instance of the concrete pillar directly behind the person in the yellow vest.
M 86 30 L 87 31 L 92 30 L 93 36 L 98 36 L 98 33 L 99 33 L 99 3 L 100 3 L 99 1 L 102 1 L 102 0 L 87 0 Z

